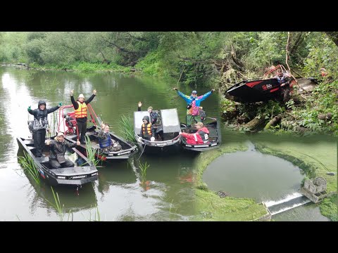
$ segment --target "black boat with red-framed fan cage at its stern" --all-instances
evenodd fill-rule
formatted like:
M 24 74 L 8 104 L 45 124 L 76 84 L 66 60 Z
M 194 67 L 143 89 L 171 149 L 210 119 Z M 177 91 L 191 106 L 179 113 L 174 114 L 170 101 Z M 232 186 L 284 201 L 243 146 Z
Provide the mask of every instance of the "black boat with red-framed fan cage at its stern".
M 68 112 L 65 112 L 66 108 L 70 108 L 68 109 Z M 122 149 L 115 152 L 104 153 L 100 148 L 98 136 L 99 130 L 101 129 L 101 119 L 96 115 L 90 104 L 87 105 L 87 108 L 91 117 L 89 122 L 92 122 L 93 125 L 87 127 L 86 136 L 89 137 L 92 148 L 96 150 L 96 159 L 104 160 L 106 162 L 111 160 L 125 160 L 137 153 L 137 145 L 126 141 L 124 138 L 113 134 L 111 131 L 109 132 L 111 139 L 119 143 L 122 146 Z M 63 131 L 65 133 L 66 140 L 76 143 L 79 134 L 77 131 L 73 105 L 63 105 L 59 110 L 58 131 Z M 80 144 L 76 148 L 80 150 L 82 154 L 87 155 L 86 144 Z

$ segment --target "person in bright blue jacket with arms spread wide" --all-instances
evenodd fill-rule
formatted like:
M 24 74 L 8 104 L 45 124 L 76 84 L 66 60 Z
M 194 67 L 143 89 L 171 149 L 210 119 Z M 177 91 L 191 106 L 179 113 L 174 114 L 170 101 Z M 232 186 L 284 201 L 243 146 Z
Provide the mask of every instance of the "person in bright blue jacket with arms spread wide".
M 187 102 L 187 126 L 191 126 L 193 121 L 201 122 L 201 116 L 199 115 L 199 106 L 201 105 L 201 101 L 208 98 L 215 89 L 208 91 L 202 96 L 197 96 L 197 91 L 192 91 L 192 95 L 187 96 L 177 88 L 173 88 L 173 90 L 177 91 L 177 94 Z

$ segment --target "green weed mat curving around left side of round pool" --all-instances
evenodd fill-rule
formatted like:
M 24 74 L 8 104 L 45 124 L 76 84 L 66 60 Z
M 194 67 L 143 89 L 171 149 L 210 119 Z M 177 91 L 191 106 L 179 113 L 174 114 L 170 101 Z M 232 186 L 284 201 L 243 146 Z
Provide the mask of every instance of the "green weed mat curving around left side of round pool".
M 208 190 L 201 176 L 215 158 L 224 153 L 247 150 L 244 143 L 228 142 L 210 150 L 196 160 L 196 221 L 252 221 L 267 214 L 263 205 L 249 198 L 224 197 Z

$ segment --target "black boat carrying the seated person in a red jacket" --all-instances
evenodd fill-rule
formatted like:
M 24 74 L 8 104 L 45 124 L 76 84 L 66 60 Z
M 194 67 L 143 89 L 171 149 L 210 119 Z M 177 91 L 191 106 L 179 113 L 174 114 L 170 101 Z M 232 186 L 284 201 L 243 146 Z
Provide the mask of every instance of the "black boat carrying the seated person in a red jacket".
M 206 119 L 203 121 L 203 124 L 209 131 L 208 142 L 203 144 L 188 144 L 185 141 L 185 138 L 181 136 L 181 145 L 184 150 L 201 152 L 218 148 L 220 146 L 222 143 L 222 134 L 220 132 L 219 119 L 206 117 Z M 194 126 L 188 127 L 186 124 L 181 123 L 181 131 L 184 131 L 188 134 L 194 134 L 196 133 L 196 128 Z

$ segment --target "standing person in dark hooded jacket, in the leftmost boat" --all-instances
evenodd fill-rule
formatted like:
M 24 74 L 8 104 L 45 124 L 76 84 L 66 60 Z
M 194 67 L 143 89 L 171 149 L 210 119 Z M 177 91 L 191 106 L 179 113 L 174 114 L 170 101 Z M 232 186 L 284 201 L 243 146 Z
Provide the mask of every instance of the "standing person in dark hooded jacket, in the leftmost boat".
M 40 100 L 37 103 L 37 109 L 32 110 L 30 106 L 27 108 L 27 111 L 30 115 L 34 115 L 34 121 L 32 124 L 32 134 L 33 141 L 35 146 L 35 156 L 42 157 L 42 150 L 44 150 L 44 142 L 46 141 L 46 130 L 48 129 L 48 119 L 47 115 L 51 112 L 54 112 L 60 108 L 62 103 L 58 103 L 58 105 L 53 108 L 46 108 L 46 102 Z

